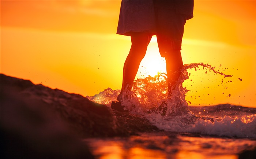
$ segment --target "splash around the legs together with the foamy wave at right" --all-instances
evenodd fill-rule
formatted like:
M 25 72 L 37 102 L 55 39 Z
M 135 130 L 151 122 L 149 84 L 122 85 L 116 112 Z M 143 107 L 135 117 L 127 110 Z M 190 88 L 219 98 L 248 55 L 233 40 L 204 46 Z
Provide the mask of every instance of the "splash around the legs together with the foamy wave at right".
M 188 69 L 197 70 L 200 69 L 199 67 L 207 68 L 209 72 L 213 71 L 224 78 L 232 77 L 216 71 L 215 67 L 211 67 L 209 64 L 185 64 L 176 85 L 172 88 L 171 98 L 168 97 L 167 92 L 167 75 L 158 73 L 155 77 L 148 76 L 144 79 L 135 80 L 131 91 L 125 89 L 122 104 L 130 114 L 143 116 L 161 130 L 256 138 L 256 115 L 214 118 L 196 116 L 188 109 L 185 94 L 189 90 L 183 87 L 182 83 L 189 79 Z M 113 91 L 108 88 L 98 95 L 87 96 L 87 98 L 93 102 L 110 106 L 119 93 L 120 90 Z M 242 130 L 237 129 L 237 127 L 241 127 Z

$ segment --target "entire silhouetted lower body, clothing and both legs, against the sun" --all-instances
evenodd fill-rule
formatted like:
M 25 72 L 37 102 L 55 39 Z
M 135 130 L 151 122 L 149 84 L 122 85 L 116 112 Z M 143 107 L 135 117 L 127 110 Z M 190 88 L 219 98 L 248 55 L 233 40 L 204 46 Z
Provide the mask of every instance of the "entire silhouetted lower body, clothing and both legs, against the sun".
M 123 68 L 123 83 L 131 89 L 140 62 L 146 55 L 153 35 L 157 35 L 159 52 L 166 60 L 168 96 L 183 66 L 181 41 L 186 20 L 193 17 L 193 0 L 122 0 L 117 34 L 131 36 L 131 49 Z

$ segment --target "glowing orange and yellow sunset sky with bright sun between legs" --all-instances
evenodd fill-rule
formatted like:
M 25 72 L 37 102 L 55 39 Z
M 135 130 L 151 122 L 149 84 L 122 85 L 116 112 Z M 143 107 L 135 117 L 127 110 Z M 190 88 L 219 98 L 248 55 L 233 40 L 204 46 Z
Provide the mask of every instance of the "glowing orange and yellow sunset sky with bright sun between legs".
M 233 77 L 188 70 L 190 105 L 256 107 L 256 1 L 195 0 L 185 24 L 184 64 L 204 63 Z M 93 96 L 121 88 L 131 41 L 116 34 L 121 0 L 1 0 L 0 73 Z M 154 36 L 137 77 L 165 71 Z M 240 80 L 242 79 L 242 80 Z M 199 97 L 200 96 L 200 97 Z

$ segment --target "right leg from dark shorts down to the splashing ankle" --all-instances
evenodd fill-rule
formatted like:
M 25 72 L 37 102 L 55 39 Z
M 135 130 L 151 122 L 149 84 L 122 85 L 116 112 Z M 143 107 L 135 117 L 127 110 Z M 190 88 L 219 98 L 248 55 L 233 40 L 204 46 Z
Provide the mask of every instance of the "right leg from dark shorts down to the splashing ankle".
M 186 23 L 185 15 L 176 14 L 172 10 L 157 8 L 157 42 L 159 52 L 166 60 L 168 94 L 177 82 L 183 67 L 181 42 Z

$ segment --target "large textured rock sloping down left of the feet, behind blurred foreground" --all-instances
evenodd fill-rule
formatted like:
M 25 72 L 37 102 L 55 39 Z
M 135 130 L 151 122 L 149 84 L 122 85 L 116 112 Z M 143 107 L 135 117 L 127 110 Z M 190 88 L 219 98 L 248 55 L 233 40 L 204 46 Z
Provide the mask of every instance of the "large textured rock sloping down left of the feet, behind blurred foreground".
M 34 85 L 28 80 L 0 75 L 1 99 L 6 98 L 5 105 L 11 101 L 23 100 L 28 109 L 46 109 L 52 112 L 54 118 L 59 118 L 80 137 L 114 136 L 113 115 L 104 105 L 96 104 L 77 94 L 51 89 L 41 84 Z M 8 99 L 8 100 L 7 100 Z M 34 101 L 34 102 L 32 102 Z M 16 102 L 17 104 L 19 102 Z M 36 104 L 35 104 L 36 103 Z M 12 103 L 11 107 L 17 104 Z M 1 104 L 2 105 L 2 104 Z M 5 106 L 3 105 L 3 106 Z M 2 106 L 1 106 L 2 107 Z M 16 106 L 14 110 L 19 108 Z M 20 112 L 25 113 L 25 112 Z M 34 114 L 37 116 L 37 114 Z

